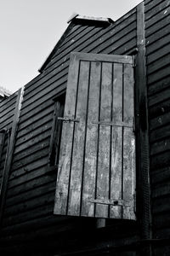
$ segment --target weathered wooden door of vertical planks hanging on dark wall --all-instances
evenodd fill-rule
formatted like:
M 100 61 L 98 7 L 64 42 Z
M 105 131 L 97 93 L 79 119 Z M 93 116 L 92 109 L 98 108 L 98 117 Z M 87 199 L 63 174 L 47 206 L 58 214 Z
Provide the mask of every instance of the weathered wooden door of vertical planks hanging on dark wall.
M 135 219 L 133 58 L 72 53 L 54 213 Z

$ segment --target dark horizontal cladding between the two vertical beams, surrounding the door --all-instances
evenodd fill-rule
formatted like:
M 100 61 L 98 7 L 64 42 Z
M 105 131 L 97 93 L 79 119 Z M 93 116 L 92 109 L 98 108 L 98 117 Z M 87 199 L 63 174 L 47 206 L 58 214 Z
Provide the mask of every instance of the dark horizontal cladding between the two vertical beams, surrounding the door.
M 33 253 L 31 247 L 34 247 L 34 253 L 38 255 L 39 251 L 42 255 L 55 252 L 55 248 L 58 248 L 58 253 L 66 253 L 82 251 L 83 247 L 88 247 L 93 252 L 97 244 L 101 246 L 102 237 L 105 236 L 101 232 L 99 238 L 93 218 L 84 220 L 53 215 L 57 173 L 48 168 L 54 115 L 53 99 L 65 91 L 71 51 L 119 55 L 131 55 L 135 51 L 136 9 L 107 27 L 98 26 L 97 23 L 96 26 L 90 26 L 72 22 L 73 26 L 67 30 L 65 39 L 60 42 L 51 61 L 25 87 L 4 208 L 1 233 L 3 251 L 8 247 L 8 251 L 25 250 L 25 253 Z M 111 230 L 108 228 L 108 234 L 114 232 L 116 239 L 123 245 L 131 244 L 138 237 L 136 224 L 122 232 L 122 226 L 126 225 L 129 224 L 119 224 L 119 228 L 114 228 L 115 231 L 112 230 L 113 227 Z M 90 238 L 82 236 L 86 229 L 94 233 L 94 243 L 91 243 Z M 108 235 L 107 237 L 109 238 Z M 81 243 L 82 247 L 78 245 Z M 105 253 L 105 243 L 102 247 Z M 117 247 L 116 243 L 112 247 Z M 131 248 L 131 255 L 135 251 L 135 248 Z

